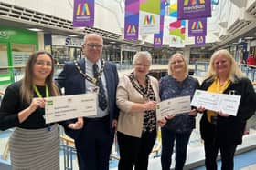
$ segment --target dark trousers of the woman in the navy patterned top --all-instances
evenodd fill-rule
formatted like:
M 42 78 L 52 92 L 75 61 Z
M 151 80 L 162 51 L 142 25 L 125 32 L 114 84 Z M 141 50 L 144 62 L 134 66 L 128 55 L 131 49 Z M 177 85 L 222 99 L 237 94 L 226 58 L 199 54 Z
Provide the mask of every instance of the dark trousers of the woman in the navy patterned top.
M 161 129 L 162 133 L 162 170 L 170 170 L 172 164 L 172 155 L 176 143 L 176 170 L 182 170 L 187 158 L 187 144 L 192 131 L 186 133 L 176 133 L 165 127 Z

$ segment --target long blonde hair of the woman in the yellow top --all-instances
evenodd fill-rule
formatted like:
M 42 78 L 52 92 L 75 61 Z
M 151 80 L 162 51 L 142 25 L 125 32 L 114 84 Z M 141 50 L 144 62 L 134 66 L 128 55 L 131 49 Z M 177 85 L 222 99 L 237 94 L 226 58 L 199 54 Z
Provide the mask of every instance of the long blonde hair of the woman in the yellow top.
M 241 78 L 244 76 L 242 74 L 242 72 L 240 71 L 240 68 L 237 65 L 236 61 L 234 60 L 232 55 L 229 53 L 229 51 L 226 49 L 220 49 L 220 50 L 214 52 L 213 55 L 211 55 L 211 57 L 210 57 L 207 77 L 219 76 L 214 69 L 214 61 L 219 55 L 228 59 L 228 61 L 230 62 L 229 79 L 231 80 L 231 82 L 234 82 L 235 77 Z

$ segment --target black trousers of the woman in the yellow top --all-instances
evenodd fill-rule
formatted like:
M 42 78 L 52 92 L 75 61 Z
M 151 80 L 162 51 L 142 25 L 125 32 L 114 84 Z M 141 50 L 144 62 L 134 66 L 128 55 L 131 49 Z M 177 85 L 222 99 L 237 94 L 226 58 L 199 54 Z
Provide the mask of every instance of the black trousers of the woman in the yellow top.
M 217 170 L 217 156 L 219 151 L 221 156 L 221 169 L 234 169 L 234 155 L 237 145 L 219 145 L 218 140 L 216 140 L 215 142 L 205 141 L 204 146 L 207 170 Z

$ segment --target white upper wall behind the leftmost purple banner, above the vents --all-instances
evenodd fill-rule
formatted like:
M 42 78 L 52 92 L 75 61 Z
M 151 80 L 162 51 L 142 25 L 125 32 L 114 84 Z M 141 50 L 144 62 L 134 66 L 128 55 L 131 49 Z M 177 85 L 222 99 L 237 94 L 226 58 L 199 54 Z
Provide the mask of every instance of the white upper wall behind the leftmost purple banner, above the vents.
M 7 4 L 22 6 L 44 14 L 73 20 L 73 0 L 0 0 Z M 120 2 L 120 3 L 119 3 Z M 123 1 L 95 0 L 94 27 L 121 34 L 123 26 Z

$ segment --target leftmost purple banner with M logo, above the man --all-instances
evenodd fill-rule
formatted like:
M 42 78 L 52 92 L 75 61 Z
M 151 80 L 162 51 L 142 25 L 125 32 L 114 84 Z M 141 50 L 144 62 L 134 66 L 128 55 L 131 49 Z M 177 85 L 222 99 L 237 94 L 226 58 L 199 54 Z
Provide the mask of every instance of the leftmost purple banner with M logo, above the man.
M 73 26 L 94 25 L 94 0 L 74 0 Z

